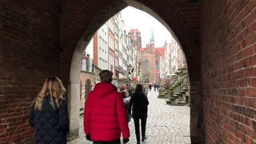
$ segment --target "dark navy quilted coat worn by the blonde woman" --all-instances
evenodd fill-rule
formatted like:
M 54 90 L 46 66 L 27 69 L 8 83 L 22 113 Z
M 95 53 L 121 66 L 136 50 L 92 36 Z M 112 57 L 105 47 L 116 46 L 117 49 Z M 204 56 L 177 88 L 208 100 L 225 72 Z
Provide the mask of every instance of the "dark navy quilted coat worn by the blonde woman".
M 55 99 L 55 98 L 54 98 Z M 34 144 L 67 143 L 69 118 L 66 100 L 60 100 L 60 108 L 53 109 L 48 95 L 42 105 L 42 110 L 35 110 L 34 105 L 28 123 L 34 128 Z M 56 103 L 55 107 L 56 107 Z

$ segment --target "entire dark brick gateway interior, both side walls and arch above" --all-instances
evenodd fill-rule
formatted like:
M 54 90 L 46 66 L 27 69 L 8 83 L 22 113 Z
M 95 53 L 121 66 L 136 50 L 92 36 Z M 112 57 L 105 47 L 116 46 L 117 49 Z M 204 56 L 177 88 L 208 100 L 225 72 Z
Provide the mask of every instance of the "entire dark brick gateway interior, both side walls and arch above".
M 166 22 L 186 56 L 191 142 L 255 142 L 255 1 L 137 2 Z M 0 144 L 31 143 L 27 117 L 46 77 L 67 87 L 79 39 L 89 43 L 125 7 L 117 0 L 0 2 Z

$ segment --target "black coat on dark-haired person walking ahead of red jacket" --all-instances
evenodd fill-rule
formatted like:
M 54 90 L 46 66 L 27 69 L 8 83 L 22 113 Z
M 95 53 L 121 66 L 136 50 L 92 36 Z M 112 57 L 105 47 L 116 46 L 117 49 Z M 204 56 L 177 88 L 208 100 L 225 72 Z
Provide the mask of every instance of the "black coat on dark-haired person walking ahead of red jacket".
M 132 118 L 146 118 L 148 117 L 148 97 L 144 92 L 135 92 L 131 95 L 130 104 L 128 112 L 131 113 L 132 108 Z

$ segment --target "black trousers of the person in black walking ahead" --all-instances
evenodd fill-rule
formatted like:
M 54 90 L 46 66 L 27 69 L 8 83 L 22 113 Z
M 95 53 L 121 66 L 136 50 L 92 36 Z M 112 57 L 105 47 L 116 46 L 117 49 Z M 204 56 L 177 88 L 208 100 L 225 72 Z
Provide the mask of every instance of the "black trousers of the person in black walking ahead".
M 137 141 L 141 141 L 141 137 L 139 136 L 139 119 L 133 119 L 135 124 L 135 134 Z M 147 124 L 147 117 L 141 118 L 141 135 L 145 137 L 146 133 L 146 124 Z

